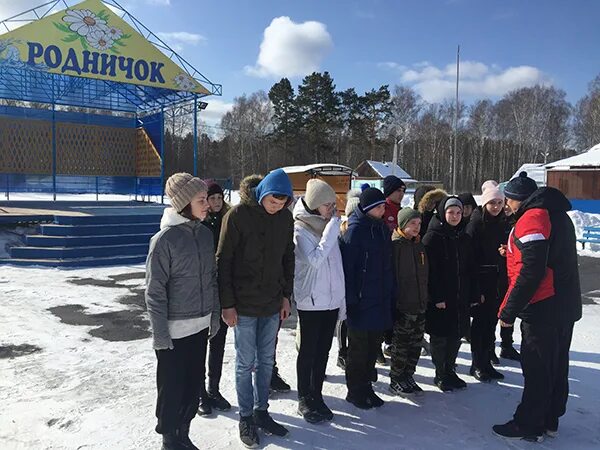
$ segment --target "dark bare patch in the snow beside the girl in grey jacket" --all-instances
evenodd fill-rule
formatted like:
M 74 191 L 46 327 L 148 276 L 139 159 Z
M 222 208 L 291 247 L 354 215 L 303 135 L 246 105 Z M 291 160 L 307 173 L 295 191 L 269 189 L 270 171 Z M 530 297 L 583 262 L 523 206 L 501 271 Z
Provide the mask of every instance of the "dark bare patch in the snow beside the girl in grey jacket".
M 143 280 L 144 272 L 123 273 L 109 276 L 108 280 L 96 278 L 70 278 L 68 283 L 77 286 L 97 286 L 104 288 L 127 289 L 128 294 L 116 299 L 130 308 L 121 311 L 92 314 L 87 312 L 84 305 L 64 305 L 49 308 L 48 310 L 68 325 L 83 325 L 95 327 L 89 331 L 94 337 L 105 341 L 123 342 L 145 339 L 151 335 L 150 323 L 146 319 L 146 302 L 144 287 L 140 285 L 121 284 L 129 280 Z

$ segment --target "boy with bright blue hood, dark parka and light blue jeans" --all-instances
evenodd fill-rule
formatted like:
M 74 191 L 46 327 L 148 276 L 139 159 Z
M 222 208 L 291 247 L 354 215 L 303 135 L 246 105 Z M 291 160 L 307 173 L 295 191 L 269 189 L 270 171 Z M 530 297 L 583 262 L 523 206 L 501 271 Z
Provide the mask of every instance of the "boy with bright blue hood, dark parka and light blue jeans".
M 246 177 L 240 203 L 223 218 L 217 249 L 223 321 L 235 333 L 240 440 L 248 448 L 259 445 L 257 428 L 288 434 L 269 415 L 268 398 L 277 332 L 290 314 L 294 284 L 292 198 L 281 169 Z

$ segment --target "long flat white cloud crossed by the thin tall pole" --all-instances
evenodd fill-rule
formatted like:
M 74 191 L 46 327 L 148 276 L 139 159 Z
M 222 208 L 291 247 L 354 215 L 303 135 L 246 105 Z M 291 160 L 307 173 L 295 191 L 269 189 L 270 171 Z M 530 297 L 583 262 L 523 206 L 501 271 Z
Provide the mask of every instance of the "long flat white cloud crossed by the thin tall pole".
M 428 62 L 420 62 L 406 67 L 387 62 L 378 66 L 397 72 L 401 82 L 412 86 L 429 102 L 454 98 L 456 63 L 436 67 Z M 460 63 L 460 95 L 463 98 L 501 97 L 514 89 L 548 83 L 549 78 L 532 66 L 504 69 L 495 64 L 487 65 L 478 61 Z

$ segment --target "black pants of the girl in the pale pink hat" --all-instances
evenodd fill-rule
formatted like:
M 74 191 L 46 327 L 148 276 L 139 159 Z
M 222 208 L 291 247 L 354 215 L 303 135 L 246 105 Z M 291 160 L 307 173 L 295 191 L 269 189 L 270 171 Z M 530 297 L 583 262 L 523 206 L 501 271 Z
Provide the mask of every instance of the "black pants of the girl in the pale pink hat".
M 486 302 L 487 303 L 487 302 Z M 486 303 L 472 308 L 471 353 L 473 366 L 483 369 L 490 365 L 491 352 L 496 342 L 498 308 Z

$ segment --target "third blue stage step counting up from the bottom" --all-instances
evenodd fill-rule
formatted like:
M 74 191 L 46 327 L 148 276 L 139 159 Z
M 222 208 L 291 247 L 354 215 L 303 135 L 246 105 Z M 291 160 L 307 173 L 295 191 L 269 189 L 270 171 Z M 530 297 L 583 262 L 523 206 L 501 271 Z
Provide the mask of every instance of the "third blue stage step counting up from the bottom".
M 44 236 L 30 234 L 25 236 L 29 247 L 98 247 L 104 245 L 148 244 L 151 233 L 115 234 L 98 236 Z

